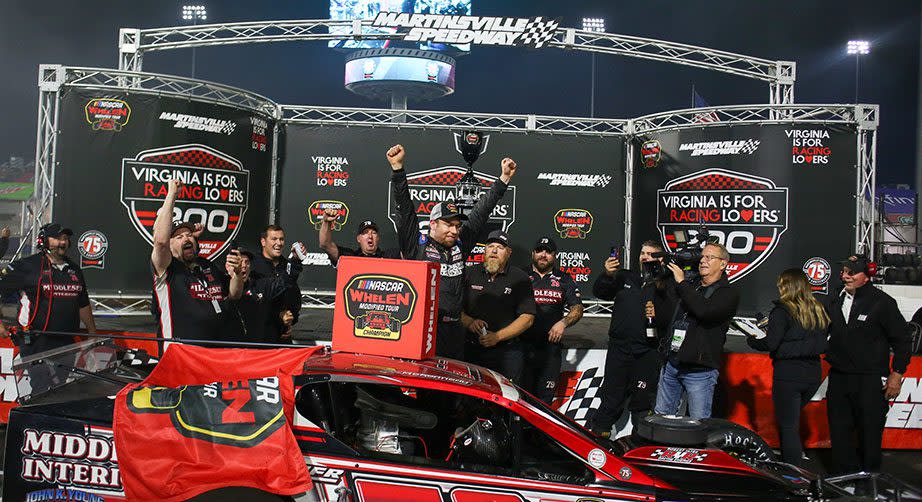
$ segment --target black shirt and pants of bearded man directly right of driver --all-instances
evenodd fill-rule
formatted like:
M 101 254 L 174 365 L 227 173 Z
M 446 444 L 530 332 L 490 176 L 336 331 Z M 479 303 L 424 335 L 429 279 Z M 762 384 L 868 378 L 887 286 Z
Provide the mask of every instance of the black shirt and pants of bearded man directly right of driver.
M 518 267 L 506 265 L 490 277 L 480 264 L 467 271 L 464 289 L 464 313 L 487 323 L 487 330 L 499 331 L 512 324 L 520 315 L 536 312 L 535 295 L 531 278 Z M 498 371 L 506 378 L 519 381 L 522 375 L 523 355 L 519 337 L 504 340 L 493 347 L 480 345 L 478 335 L 467 334 L 468 359 L 476 364 Z

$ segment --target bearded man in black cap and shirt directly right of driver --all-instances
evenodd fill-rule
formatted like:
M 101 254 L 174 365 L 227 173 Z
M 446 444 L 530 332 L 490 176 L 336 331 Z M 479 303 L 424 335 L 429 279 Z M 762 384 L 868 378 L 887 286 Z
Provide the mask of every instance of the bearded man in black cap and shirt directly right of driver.
M 483 263 L 468 268 L 464 281 L 467 360 L 517 382 L 524 364 L 518 336 L 534 323 L 535 295 L 528 275 L 509 265 L 506 232 L 490 232 L 486 244 Z

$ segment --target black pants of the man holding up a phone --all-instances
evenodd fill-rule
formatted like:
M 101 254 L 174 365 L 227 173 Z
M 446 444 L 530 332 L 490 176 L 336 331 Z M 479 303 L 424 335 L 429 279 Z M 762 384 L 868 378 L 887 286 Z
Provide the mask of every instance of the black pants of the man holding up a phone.
M 609 342 L 605 379 L 599 389 L 602 404 L 589 421 L 592 430 L 608 431 L 621 417 L 625 402 L 636 424 L 656 404 L 662 358 L 655 350 L 632 354 L 620 343 Z

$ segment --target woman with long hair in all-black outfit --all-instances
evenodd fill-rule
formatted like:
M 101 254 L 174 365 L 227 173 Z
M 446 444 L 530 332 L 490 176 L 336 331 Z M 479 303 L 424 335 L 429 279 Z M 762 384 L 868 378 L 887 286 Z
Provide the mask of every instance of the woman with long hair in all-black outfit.
M 822 378 L 820 355 L 826 351 L 829 316 L 813 297 L 807 276 L 792 268 L 778 276 L 775 308 L 765 337 L 746 339 L 756 350 L 768 351 L 774 366 L 772 400 L 781 436 L 781 458 L 801 465 L 800 410 L 816 393 Z

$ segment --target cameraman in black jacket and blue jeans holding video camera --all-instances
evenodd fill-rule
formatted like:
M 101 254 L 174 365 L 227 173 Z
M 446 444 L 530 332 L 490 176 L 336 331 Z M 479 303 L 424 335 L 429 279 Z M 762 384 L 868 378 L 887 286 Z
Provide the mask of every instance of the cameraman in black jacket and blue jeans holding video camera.
M 666 364 L 656 394 L 657 414 L 675 415 L 684 390 L 691 418 L 711 416 L 717 368 L 739 305 L 739 292 L 730 286 L 725 273 L 729 260 L 725 247 L 707 244 L 698 262 L 700 280 L 695 281 L 686 280 L 685 271 L 674 262 L 668 264 L 678 306 L 668 329 Z

